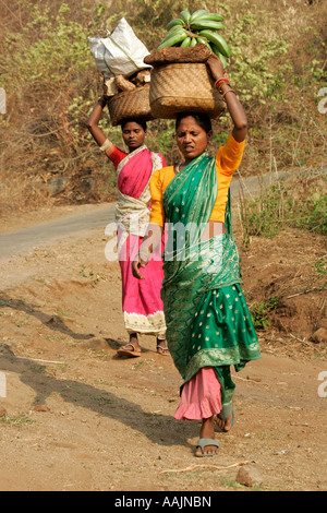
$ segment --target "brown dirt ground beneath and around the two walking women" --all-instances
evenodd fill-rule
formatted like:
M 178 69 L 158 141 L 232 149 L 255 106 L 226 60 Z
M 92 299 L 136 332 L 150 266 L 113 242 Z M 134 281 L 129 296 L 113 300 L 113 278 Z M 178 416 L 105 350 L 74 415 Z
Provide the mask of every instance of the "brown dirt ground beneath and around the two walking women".
M 12 228 L 21 226 L 12 219 Z M 307 277 L 306 254 L 324 251 L 312 237 L 254 240 L 241 254 L 247 298 L 258 281 L 290 287 L 290 265 Z M 244 462 L 262 490 L 326 490 L 326 347 L 308 341 L 301 315 L 282 318 L 288 332 L 259 332 L 262 360 L 234 374 L 232 431 L 218 434 L 217 457 L 195 458 L 199 425 L 172 418 L 181 380 L 170 357 L 156 354 L 154 337 L 142 338 L 141 358 L 116 357 L 126 335 L 106 243 L 101 225 L 22 254 L 4 258 L 1 247 L 0 490 L 243 491 L 253 489 L 235 480 Z

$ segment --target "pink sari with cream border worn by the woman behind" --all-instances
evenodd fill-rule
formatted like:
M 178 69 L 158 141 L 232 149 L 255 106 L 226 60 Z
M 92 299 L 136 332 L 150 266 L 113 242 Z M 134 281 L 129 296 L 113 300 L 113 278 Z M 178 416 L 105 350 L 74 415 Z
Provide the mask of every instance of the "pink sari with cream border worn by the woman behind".
M 165 164 L 162 155 L 146 146 L 121 160 L 117 168 L 119 202 L 118 253 L 122 278 L 122 309 L 129 333 L 145 333 L 165 338 L 166 323 L 160 298 L 162 261 L 152 259 L 144 269 L 145 279 L 132 275 L 132 262 L 142 244 L 149 222 L 149 179 Z M 164 246 L 161 248 L 164 250 Z

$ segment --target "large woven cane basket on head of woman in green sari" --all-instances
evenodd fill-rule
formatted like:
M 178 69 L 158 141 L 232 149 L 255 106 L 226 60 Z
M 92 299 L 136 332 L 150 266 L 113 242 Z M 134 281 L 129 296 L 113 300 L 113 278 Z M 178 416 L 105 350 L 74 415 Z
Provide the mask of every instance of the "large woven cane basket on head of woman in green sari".
M 154 118 L 174 119 L 178 112 L 206 112 L 218 118 L 225 109 L 206 64 L 173 63 L 152 70 L 149 92 Z

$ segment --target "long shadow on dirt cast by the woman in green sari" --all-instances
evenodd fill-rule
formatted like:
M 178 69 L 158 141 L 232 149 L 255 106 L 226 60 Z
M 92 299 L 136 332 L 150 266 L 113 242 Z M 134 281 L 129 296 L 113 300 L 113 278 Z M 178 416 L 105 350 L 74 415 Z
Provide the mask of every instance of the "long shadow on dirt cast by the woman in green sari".
M 197 436 L 198 426 L 194 422 L 181 425 L 171 416 L 144 411 L 141 405 L 106 390 L 74 380 L 57 379 L 47 374 L 46 366 L 16 357 L 7 344 L 0 344 L 0 371 L 19 374 L 21 382 L 35 391 L 32 407 L 45 405 L 47 397 L 59 394 L 75 407 L 87 408 L 142 432 L 153 443 L 168 446 L 186 444 L 190 450 L 193 449 L 186 440 Z

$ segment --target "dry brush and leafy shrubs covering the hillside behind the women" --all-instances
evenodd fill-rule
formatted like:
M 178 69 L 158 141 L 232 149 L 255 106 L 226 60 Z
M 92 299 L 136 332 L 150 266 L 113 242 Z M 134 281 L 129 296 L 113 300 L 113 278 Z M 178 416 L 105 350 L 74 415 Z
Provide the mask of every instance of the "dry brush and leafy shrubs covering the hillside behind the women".
M 193 0 L 12 0 L 10 7 L 1 4 L 0 87 L 8 93 L 8 115 L 0 117 L 1 208 L 46 203 L 46 186 L 57 175 L 69 183 L 61 201 L 116 196 L 113 167 L 101 159 L 85 128 L 101 94 L 101 76 L 87 37 L 105 35 L 124 16 L 152 51 L 166 34 L 167 23 L 182 9 L 193 12 L 202 7 Z M 272 157 L 278 168 L 322 166 L 326 117 L 318 112 L 317 92 L 325 85 L 323 8 L 299 5 L 298 16 L 291 8 L 284 9 L 282 0 L 265 4 L 208 0 L 206 8 L 226 19 L 232 49 L 229 74 L 249 117 L 242 172 L 264 172 Z M 216 151 L 230 132 L 229 117 L 221 117 L 214 127 L 211 150 Z M 101 128 L 121 145 L 120 130 L 110 127 L 108 111 Z M 147 142 L 165 154 L 168 164 L 179 159 L 173 121 L 153 121 Z M 262 204 L 267 222 L 277 192 L 271 191 Z M 306 206 L 318 219 L 323 200 Z M 262 225 L 261 231 L 266 229 L 262 217 L 255 224 Z M 317 220 L 302 223 L 316 225 Z

